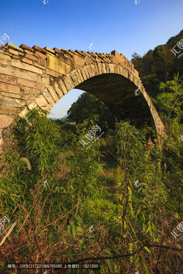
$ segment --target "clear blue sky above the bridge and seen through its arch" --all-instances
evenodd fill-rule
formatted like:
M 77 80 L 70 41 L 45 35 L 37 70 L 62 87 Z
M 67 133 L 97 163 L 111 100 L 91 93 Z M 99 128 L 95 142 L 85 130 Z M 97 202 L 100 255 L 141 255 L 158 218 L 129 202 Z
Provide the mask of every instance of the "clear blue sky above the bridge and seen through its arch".
M 129 60 L 143 55 L 183 28 L 182 0 L 0 0 L 0 36 L 12 44 L 111 53 Z M 48 2 L 47 2 L 48 1 Z M 61 118 L 82 93 L 71 90 L 52 107 L 49 117 Z

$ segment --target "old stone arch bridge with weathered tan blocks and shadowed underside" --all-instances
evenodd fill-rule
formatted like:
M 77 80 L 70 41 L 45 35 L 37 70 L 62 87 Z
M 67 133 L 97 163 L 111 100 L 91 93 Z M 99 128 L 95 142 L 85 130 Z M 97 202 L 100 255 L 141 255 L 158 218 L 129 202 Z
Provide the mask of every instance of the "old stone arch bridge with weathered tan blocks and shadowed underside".
M 0 50 L 1 131 L 27 109 L 51 110 L 73 88 L 95 95 L 117 118 L 138 128 L 147 124 L 157 132 L 164 129 L 138 72 L 123 54 L 17 47 L 8 42 Z

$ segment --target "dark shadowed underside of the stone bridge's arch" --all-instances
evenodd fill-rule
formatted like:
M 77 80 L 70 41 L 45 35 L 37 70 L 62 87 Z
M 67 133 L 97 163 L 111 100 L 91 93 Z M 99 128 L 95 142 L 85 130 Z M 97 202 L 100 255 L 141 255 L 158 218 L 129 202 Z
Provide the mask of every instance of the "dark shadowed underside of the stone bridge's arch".
M 135 96 L 137 88 L 126 77 L 114 73 L 93 76 L 75 87 L 102 100 L 118 120 L 128 121 L 136 128 L 156 128 L 144 95 L 138 92 Z

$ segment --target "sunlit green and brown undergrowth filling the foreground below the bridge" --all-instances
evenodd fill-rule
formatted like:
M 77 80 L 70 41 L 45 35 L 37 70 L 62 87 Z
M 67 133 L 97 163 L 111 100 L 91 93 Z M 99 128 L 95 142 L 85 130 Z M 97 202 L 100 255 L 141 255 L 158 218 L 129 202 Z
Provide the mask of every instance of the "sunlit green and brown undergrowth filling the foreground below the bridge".
M 1 273 L 15 273 L 5 263 L 16 262 L 99 266 L 70 273 L 183 272 L 182 241 L 170 234 L 183 214 L 183 84 L 175 76 L 160 88 L 167 135 L 118 122 L 86 149 L 79 141 L 98 115 L 74 133 L 38 109 L 4 132 L 1 216 L 14 224 L 1 235 Z

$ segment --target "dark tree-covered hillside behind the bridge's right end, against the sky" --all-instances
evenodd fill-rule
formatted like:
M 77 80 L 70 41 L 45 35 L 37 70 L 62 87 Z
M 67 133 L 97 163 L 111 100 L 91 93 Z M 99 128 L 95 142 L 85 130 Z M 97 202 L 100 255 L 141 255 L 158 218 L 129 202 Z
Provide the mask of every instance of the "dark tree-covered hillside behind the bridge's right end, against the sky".
M 183 38 L 183 30 L 174 37 L 171 37 L 166 44 L 159 45 L 154 50 L 149 50 L 142 57 L 132 54 L 131 62 L 139 72 L 146 92 L 149 94 L 153 104 L 158 108 L 157 95 L 160 93 L 161 82 L 171 81 L 174 74 L 183 75 L 183 62 L 181 58 L 176 58 L 171 49 Z M 178 56 L 178 55 L 177 55 Z

